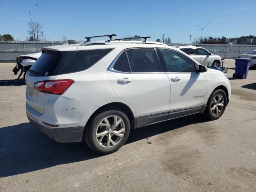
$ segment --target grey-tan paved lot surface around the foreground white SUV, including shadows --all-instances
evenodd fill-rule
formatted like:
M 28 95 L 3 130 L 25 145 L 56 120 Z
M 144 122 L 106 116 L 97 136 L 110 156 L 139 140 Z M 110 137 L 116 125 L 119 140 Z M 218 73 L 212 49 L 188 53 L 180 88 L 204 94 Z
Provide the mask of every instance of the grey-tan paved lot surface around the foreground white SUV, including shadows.
M 232 77 L 234 60 L 225 65 Z M 196 114 L 146 126 L 101 156 L 28 123 L 14 66 L 0 64 L 0 191 L 256 191 L 256 68 L 246 80 L 230 78 L 219 120 Z

